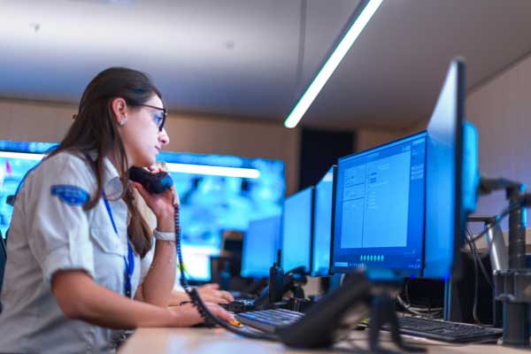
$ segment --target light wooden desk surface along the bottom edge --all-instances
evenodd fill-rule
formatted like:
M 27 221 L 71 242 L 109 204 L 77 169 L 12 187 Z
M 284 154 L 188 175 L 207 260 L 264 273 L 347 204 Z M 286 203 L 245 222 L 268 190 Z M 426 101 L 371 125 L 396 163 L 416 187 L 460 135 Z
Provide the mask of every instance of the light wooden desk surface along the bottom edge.
M 294 350 L 279 342 L 265 342 L 242 338 L 228 333 L 222 328 L 139 328 L 119 350 L 119 354 L 158 354 L 158 353 L 345 353 L 366 352 L 366 335 L 368 331 L 353 331 L 350 342 L 343 342 L 337 348 L 328 350 Z M 395 348 L 387 333 L 381 334 L 384 348 Z M 447 344 L 424 339 L 408 338 L 408 342 L 426 346 L 428 353 L 529 353 L 529 350 L 512 349 L 495 344 Z M 345 350 L 350 348 L 350 350 Z

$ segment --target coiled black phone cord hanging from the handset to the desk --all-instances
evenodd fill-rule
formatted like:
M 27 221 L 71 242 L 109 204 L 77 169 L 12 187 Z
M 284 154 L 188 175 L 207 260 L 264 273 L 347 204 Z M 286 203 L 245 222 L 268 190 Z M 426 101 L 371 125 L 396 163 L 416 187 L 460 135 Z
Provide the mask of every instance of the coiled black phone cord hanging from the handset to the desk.
M 181 287 L 184 289 L 186 294 L 189 296 L 190 300 L 192 301 L 192 304 L 196 307 L 197 311 L 203 317 L 204 323 L 208 327 L 213 327 L 214 325 L 218 325 L 219 327 L 223 327 L 227 329 L 227 331 L 235 333 L 236 335 L 242 335 L 247 338 L 251 339 L 260 339 L 260 340 L 266 340 L 266 341 L 278 341 L 279 338 L 276 335 L 268 334 L 268 333 L 252 333 L 248 331 L 244 331 L 242 329 L 232 327 L 229 324 L 227 324 L 226 321 L 222 319 L 218 319 L 206 305 L 204 304 L 203 300 L 201 299 L 201 296 L 197 293 L 196 289 L 192 289 L 189 286 L 189 283 L 186 279 L 186 275 L 184 273 L 184 267 L 182 262 L 182 253 L 181 253 L 181 224 L 179 221 L 179 205 L 175 206 L 175 250 L 177 253 L 177 259 L 179 261 L 179 271 L 181 273 Z

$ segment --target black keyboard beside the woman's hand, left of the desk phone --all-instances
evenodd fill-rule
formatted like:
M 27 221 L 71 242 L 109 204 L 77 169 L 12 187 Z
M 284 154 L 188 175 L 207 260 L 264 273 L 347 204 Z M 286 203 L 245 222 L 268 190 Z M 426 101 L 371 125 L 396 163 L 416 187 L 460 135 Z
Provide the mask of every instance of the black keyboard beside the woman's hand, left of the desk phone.
M 264 332 L 276 333 L 279 327 L 289 326 L 301 319 L 304 313 L 285 309 L 245 312 L 235 315 L 235 319 L 249 327 Z

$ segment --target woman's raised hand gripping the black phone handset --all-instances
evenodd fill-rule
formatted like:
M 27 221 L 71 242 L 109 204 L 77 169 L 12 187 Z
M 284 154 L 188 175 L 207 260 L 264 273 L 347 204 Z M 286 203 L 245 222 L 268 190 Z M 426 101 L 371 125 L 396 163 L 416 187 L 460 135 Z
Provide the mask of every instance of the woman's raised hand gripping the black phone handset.
M 158 166 L 150 166 L 148 168 L 150 173 L 159 173 L 164 171 Z M 140 193 L 143 200 L 146 202 L 151 211 L 157 218 L 158 231 L 173 232 L 174 231 L 174 210 L 179 205 L 179 196 L 175 187 L 166 190 L 161 194 L 150 194 L 143 188 L 142 184 L 131 181 L 132 185 Z

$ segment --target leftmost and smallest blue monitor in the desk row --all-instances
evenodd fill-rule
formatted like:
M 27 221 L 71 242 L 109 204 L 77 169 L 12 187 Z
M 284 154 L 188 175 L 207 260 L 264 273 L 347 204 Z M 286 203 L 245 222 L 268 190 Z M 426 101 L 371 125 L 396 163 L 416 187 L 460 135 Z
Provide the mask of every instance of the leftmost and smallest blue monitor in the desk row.
M 281 235 L 281 216 L 251 220 L 243 237 L 242 277 L 266 278 L 277 261 Z

